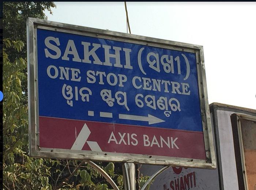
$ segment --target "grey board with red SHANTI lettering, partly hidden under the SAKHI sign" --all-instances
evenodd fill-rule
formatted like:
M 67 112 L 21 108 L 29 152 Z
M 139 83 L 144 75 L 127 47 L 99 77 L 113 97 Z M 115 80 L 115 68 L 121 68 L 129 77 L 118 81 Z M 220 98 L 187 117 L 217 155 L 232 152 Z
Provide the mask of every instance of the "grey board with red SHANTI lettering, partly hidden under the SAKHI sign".
M 161 166 L 142 165 L 140 172 L 152 175 Z M 170 167 L 154 179 L 149 190 L 219 190 L 217 170 Z

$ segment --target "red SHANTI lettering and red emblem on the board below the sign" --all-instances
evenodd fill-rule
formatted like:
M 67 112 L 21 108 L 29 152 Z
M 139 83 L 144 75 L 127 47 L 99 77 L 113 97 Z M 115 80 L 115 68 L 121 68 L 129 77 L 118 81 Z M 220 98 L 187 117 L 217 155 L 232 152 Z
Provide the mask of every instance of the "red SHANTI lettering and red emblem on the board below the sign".
M 193 189 L 193 187 L 196 187 L 196 172 L 193 171 L 191 173 L 188 173 L 187 175 L 179 175 L 181 174 L 182 170 L 188 169 L 187 167 L 172 167 L 174 177 L 173 180 L 170 181 L 169 184 L 163 185 L 163 190 L 187 190 L 187 189 Z M 178 175 L 176 177 L 176 175 Z

